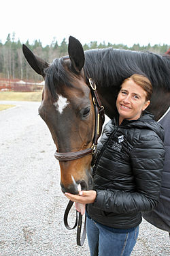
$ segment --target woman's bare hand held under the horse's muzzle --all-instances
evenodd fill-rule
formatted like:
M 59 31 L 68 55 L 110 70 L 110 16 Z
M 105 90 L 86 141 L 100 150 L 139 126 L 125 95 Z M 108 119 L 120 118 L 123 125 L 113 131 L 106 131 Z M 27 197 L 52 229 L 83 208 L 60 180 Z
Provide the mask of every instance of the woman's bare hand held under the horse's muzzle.
M 75 203 L 94 203 L 97 193 L 95 190 L 82 190 L 79 195 L 65 193 L 66 197 Z

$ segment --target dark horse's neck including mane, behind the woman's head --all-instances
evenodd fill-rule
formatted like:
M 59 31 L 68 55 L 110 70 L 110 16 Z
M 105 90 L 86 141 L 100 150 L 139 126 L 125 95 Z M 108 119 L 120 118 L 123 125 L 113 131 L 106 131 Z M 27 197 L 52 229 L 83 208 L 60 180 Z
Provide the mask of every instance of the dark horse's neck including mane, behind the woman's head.
M 148 111 L 152 112 L 155 115 L 155 119 L 158 120 L 170 106 L 170 91 L 165 89 L 164 84 L 167 84 L 167 81 L 169 81 L 169 74 L 166 71 L 167 74 L 164 77 L 164 72 L 159 72 L 160 77 L 158 78 L 158 72 L 155 70 L 158 69 L 158 66 L 161 66 L 163 70 L 164 68 L 168 70 L 168 60 L 162 59 L 162 62 L 158 62 L 155 57 L 154 65 L 151 66 L 152 54 L 141 54 L 123 50 L 122 54 L 129 55 L 129 64 L 125 65 L 125 60 L 122 60 L 121 67 L 119 66 L 117 68 L 119 61 L 116 61 L 116 59 L 120 59 L 120 51 L 113 50 L 112 48 L 99 51 L 86 51 L 85 56 L 87 57 L 87 61 L 84 66 L 86 80 L 88 81 L 88 78 L 92 77 L 95 81 L 99 97 L 105 107 L 105 113 L 108 117 L 113 118 L 116 115 L 116 98 L 122 81 L 126 77 L 131 76 L 131 74 L 146 73 L 154 83 L 152 104 L 150 104 Z M 142 61 L 139 61 L 139 56 L 142 58 Z M 103 57 L 105 60 L 108 59 L 108 61 L 103 63 Z M 147 59 L 150 59 L 150 61 L 147 62 Z M 132 63 L 134 63 L 134 66 Z M 122 70 L 122 66 L 126 69 L 125 71 Z M 123 72 L 124 74 L 122 74 Z

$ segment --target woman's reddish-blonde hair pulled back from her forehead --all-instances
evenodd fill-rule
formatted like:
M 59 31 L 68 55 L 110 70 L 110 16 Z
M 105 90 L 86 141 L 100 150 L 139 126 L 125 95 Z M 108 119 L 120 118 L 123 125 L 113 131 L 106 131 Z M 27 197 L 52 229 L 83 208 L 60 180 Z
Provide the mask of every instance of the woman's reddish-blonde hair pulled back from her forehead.
M 134 83 L 136 83 L 137 85 L 139 85 L 144 91 L 146 91 L 146 101 L 150 100 L 151 96 L 152 96 L 152 84 L 150 83 L 150 80 L 148 79 L 148 77 L 143 76 L 141 74 L 133 74 L 132 76 L 130 76 L 129 78 L 125 79 L 123 81 L 123 83 L 125 83 L 126 81 L 129 80 L 133 80 Z M 122 84 L 123 84 L 122 83 Z M 122 86 L 122 85 L 121 85 Z

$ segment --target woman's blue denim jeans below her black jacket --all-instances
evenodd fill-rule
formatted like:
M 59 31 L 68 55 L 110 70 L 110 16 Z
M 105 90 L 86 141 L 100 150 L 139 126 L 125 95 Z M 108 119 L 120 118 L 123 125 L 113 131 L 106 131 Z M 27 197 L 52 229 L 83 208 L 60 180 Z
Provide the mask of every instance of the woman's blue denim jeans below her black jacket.
M 130 231 L 113 228 L 110 231 L 91 218 L 86 220 L 86 229 L 90 256 L 129 256 L 139 234 L 139 226 Z

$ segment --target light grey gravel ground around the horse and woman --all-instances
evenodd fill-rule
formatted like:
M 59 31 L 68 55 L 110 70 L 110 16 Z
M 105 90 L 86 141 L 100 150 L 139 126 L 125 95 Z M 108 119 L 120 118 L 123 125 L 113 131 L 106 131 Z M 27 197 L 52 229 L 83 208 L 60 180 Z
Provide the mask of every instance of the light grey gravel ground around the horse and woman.
M 39 102 L 1 103 L 16 107 L 0 111 L 0 255 L 89 255 L 87 240 L 77 246 L 76 231 L 63 224 L 67 198 Z M 146 221 L 140 227 L 132 256 L 170 255 L 167 232 Z

